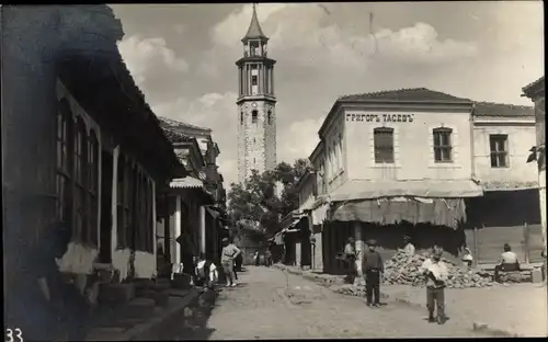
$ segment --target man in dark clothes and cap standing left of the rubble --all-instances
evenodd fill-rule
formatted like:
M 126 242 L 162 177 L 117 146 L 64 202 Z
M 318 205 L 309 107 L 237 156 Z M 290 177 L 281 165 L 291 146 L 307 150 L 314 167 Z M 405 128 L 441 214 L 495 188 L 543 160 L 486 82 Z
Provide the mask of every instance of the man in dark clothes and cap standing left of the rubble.
M 380 277 L 385 265 L 380 253 L 376 251 L 377 241 L 367 241 L 369 250 L 365 251 L 362 270 L 365 276 L 366 296 L 368 307 L 380 306 Z

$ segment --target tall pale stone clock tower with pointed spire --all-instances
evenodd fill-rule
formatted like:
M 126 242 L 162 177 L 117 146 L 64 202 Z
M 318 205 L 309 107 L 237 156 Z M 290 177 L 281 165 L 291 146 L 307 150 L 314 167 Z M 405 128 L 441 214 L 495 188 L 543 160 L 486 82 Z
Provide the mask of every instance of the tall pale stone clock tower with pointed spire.
M 256 18 L 255 4 L 248 33 L 241 39 L 243 57 L 238 66 L 238 181 L 251 170 L 260 173 L 276 167 L 276 96 L 274 65 L 267 57 L 266 37 Z

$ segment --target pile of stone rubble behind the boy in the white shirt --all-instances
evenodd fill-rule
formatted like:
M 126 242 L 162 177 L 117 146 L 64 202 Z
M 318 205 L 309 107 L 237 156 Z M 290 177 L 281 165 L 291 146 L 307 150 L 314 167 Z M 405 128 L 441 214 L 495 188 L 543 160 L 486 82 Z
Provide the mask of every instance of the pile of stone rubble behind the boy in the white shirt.
M 426 253 L 409 258 L 403 251 L 397 252 L 385 262 L 384 284 L 424 285 L 424 277 L 420 269 L 426 258 Z M 449 288 L 486 287 L 494 284 L 489 273 L 466 270 L 446 259 L 442 260 L 449 271 L 449 278 L 446 283 Z

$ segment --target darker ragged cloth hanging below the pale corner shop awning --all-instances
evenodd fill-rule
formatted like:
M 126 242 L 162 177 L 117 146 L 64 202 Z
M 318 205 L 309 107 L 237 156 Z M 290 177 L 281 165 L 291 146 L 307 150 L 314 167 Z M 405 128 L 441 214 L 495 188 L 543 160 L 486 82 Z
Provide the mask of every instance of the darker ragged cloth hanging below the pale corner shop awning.
M 463 198 L 410 198 L 392 197 L 338 203 L 330 220 L 364 221 L 393 225 L 402 220 L 411 224 L 432 224 L 457 228 L 466 221 L 466 205 Z

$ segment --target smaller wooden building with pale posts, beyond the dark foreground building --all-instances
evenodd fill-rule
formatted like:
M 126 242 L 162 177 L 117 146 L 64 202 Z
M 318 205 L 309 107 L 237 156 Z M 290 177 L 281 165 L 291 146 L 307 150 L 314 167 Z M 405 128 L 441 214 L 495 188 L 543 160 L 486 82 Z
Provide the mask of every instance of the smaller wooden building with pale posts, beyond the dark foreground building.
M 190 172 L 174 179 L 165 191 L 169 209 L 158 229 L 164 252 L 172 264 L 189 263 L 189 258 L 199 252 L 219 263 L 221 239 L 228 236 L 226 193 L 217 166 L 219 148 L 208 128 L 168 118 L 161 122 L 175 155 Z

